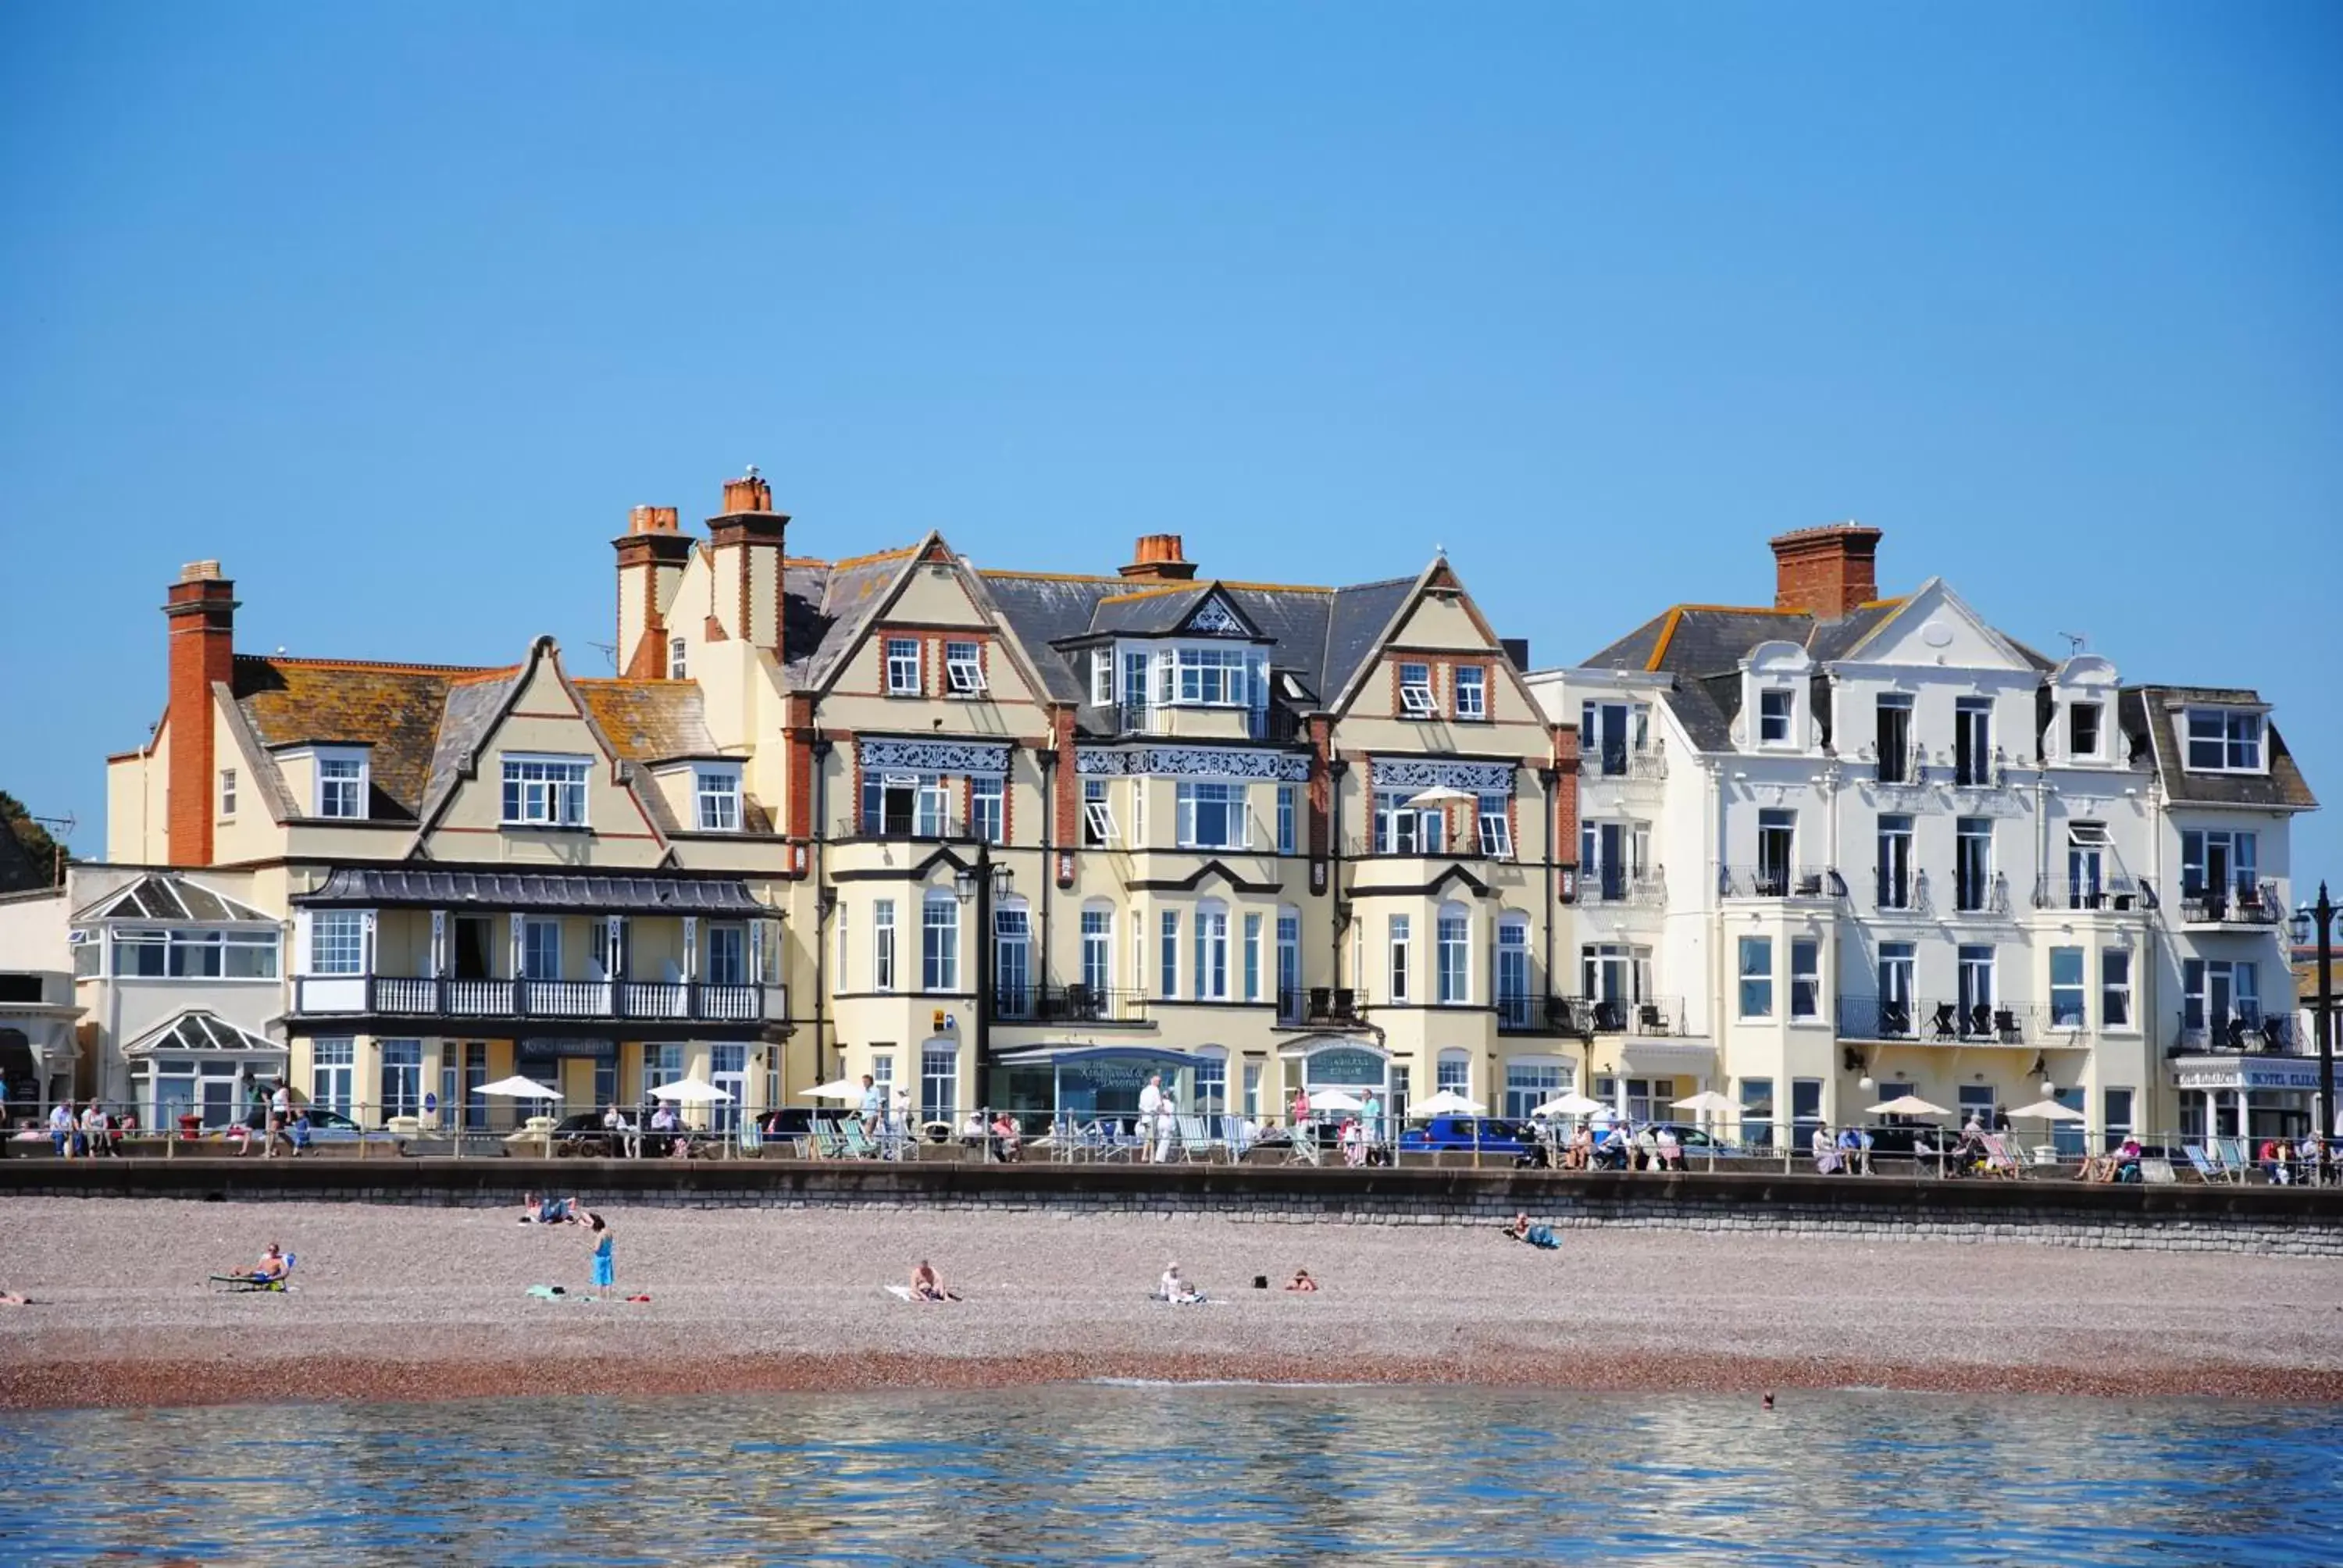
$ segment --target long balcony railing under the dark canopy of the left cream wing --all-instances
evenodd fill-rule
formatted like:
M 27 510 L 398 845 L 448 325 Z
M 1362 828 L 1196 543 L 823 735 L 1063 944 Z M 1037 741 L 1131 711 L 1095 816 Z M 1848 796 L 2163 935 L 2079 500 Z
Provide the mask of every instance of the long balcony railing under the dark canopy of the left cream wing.
M 448 975 L 295 975 L 293 1015 L 445 1022 L 778 1024 L 780 984 L 708 980 L 455 980 Z

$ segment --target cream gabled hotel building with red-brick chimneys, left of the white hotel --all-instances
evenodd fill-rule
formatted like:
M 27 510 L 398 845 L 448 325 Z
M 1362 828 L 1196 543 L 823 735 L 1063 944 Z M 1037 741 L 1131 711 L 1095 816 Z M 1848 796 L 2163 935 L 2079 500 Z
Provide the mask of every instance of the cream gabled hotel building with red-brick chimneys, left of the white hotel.
M 787 532 L 754 473 L 705 537 L 637 506 L 616 677 L 546 638 L 504 668 L 244 654 L 232 584 L 185 567 L 108 851 L 150 902 L 281 921 L 244 1066 L 424 1125 L 501 1125 L 473 1090 L 515 1071 L 572 1111 L 869 1073 L 923 1120 L 1127 1113 L 1150 1073 L 1263 1118 L 1577 1080 L 1574 731 L 1446 560 L 1307 588 L 1204 577 L 1176 534 L 1082 577 Z M 84 984 L 117 980 L 103 900 L 73 919 Z M 164 1022 L 91 1092 L 185 1102 L 206 1066 L 166 1066 L 194 1052 Z

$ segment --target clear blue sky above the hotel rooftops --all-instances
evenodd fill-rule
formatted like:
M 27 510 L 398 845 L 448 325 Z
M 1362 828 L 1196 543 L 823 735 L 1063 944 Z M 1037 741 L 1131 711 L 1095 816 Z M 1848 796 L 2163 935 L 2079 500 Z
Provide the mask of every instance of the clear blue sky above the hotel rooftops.
M 804 553 L 1446 544 L 1539 663 L 1856 516 L 2343 802 L 2338 80 L 2317 2 L 7 5 L 0 788 L 101 853 L 183 560 L 595 673 L 757 462 Z

